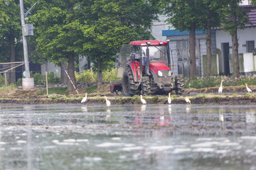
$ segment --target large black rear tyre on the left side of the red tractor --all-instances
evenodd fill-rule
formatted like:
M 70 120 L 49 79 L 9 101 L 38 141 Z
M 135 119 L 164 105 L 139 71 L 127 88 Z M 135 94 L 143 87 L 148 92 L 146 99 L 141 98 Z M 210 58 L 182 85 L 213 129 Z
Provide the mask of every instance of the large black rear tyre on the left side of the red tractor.
M 133 96 L 137 93 L 136 86 L 134 84 L 134 77 L 132 75 L 132 69 L 127 67 L 124 71 L 122 78 L 122 90 L 125 96 Z

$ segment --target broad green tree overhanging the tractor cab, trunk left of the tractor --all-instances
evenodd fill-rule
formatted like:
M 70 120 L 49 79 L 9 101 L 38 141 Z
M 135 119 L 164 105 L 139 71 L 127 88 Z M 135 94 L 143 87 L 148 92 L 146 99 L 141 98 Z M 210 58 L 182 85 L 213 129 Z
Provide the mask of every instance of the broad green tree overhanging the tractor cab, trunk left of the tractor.
M 84 33 L 82 53 L 90 56 L 97 67 L 97 83 L 102 71 L 113 66 L 123 43 L 152 39 L 150 24 L 157 18 L 154 2 L 142 0 L 90 0 L 80 4 L 81 15 L 90 13 L 81 30 Z

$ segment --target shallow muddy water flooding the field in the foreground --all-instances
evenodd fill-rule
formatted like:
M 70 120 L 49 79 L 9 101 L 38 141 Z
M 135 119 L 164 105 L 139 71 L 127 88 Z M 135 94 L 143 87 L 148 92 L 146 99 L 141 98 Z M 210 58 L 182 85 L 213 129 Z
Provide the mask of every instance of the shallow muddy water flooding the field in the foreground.
M 256 169 L 254 106 L 0 106 L 0 169 Z

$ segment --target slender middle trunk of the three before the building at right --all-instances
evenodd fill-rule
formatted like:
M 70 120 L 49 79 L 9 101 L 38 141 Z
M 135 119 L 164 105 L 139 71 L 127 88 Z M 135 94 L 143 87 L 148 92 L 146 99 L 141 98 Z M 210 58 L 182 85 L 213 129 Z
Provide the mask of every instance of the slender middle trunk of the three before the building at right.
M 210 16 L 210 9 L 208 9 L 208 16 Z M 211 75 L 211 21 L 208 18 L 207 21 L 207 33 L 206 33 L 206 54 L 207 54 L 207 75 Z

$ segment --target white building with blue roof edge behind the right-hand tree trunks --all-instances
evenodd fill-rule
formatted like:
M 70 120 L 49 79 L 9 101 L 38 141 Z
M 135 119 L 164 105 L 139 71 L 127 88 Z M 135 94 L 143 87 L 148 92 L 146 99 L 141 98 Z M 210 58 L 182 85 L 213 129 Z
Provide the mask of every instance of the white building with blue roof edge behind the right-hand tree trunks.
M 246 3 L 245 1 L 243 3 Z M 239 64 L 240 73 L 256 73 L 256 12 L 252 6 L 242 6 L 250 9 L 248 16 L 250 24 L 245 25 L 245 29 L 238 28 L 239 43 Z M 170 40 L 170 47 L 174 56 L 174 75 L 183 74 L 189 77 L 189 33 L 178 30 L 163 30 L 162 35 Z M 222 29 L 212 32 L 212 74 L 232 74 L 232 40 L 228 32 Z M 206 33 L 196 31 L 196 69 L 199 77 L 206 75 Z

